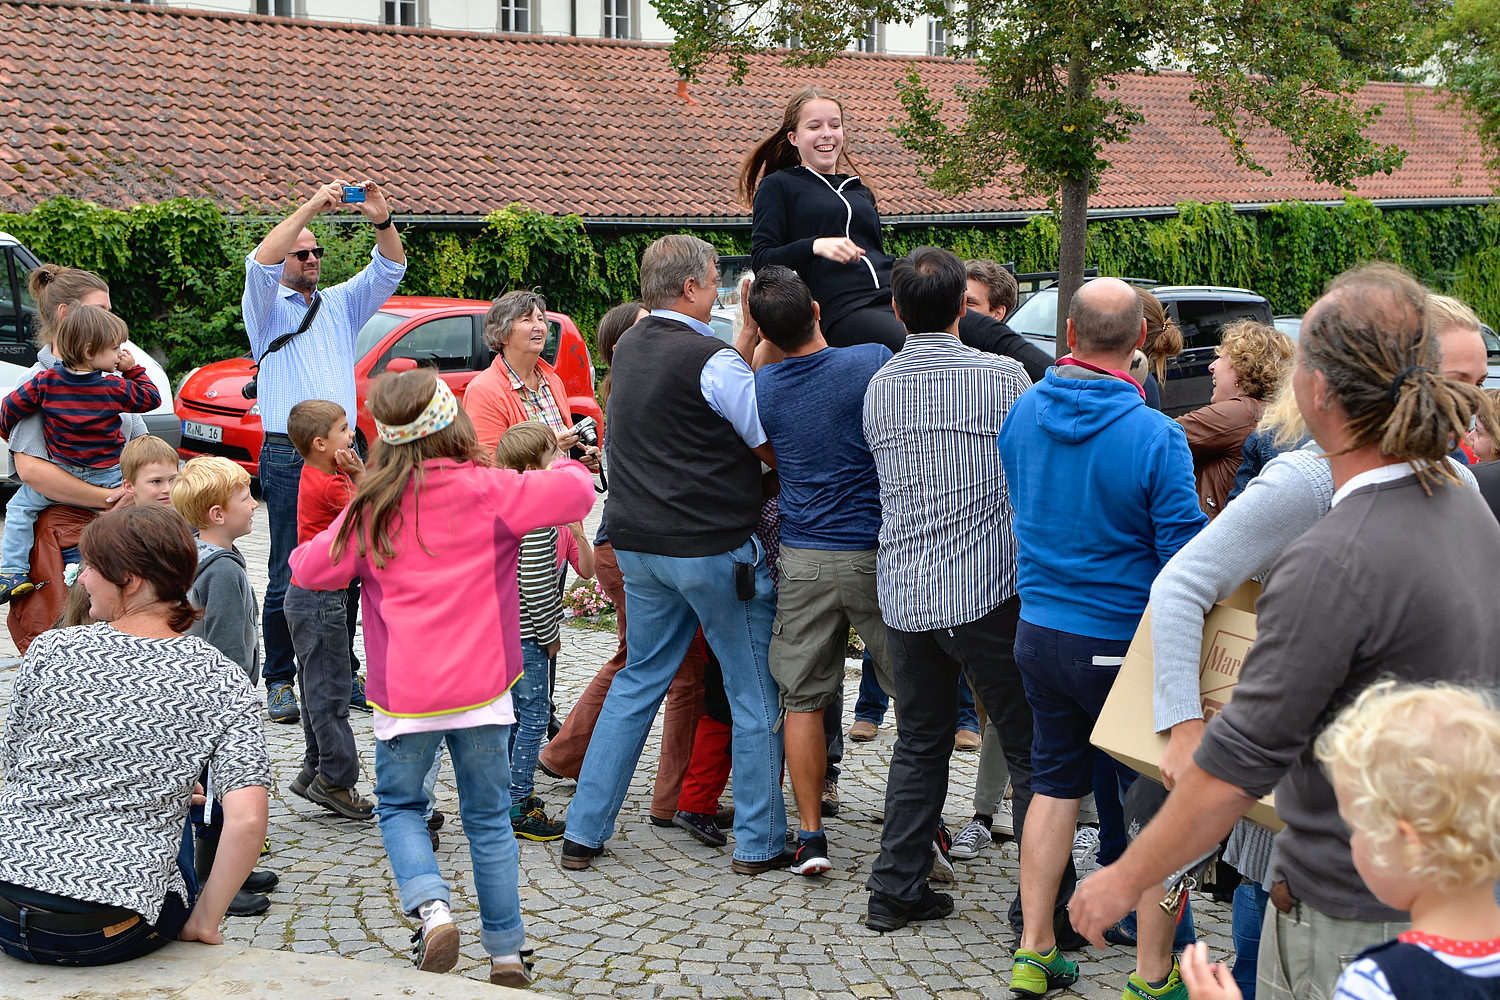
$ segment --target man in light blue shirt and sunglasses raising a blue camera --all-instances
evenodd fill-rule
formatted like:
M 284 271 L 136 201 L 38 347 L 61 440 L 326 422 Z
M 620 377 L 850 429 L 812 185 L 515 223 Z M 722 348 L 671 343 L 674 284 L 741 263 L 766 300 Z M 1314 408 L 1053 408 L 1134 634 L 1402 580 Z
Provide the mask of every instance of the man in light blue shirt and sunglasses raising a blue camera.
M 344 205 L 374 223 L 375 249 L 364 270 L 320 291 L 322 247 L 308 223 Z M 405 273 L 400 237 L 386 195 L 374 181 L 328 181 L 266 234 L 244 259 L 240 306 L 250 352 L 260 366 L 254 390 L 266 430 L 260 478 L 272 526 L 270 580 L 261 612 L 266 709 L 276 723 L 300 720 L 292 693 L 297 669 L 282 610 L 291 580 L 286 558 L 297 544 L 297 483 L 302 477 L 302 456 L 286 436 L 286 414 L 306 399 L 328 399 L 344 406 L 354 426 L 354 337 L 396 291 Z M 360 697 L 351 697 L 351 703 L 363 706 L 363 691 L 356 694 Z

